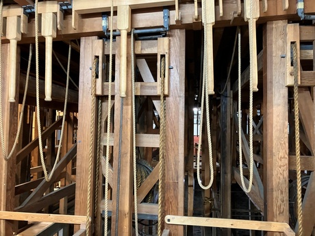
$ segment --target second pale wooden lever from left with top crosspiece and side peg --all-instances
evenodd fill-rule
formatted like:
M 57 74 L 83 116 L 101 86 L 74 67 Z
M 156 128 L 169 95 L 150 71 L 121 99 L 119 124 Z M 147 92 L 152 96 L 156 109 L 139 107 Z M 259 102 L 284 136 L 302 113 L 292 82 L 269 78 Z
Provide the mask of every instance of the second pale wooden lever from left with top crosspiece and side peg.
M 53 38 L 62 29 L 62 13 L 58 1 L 38 3 L 38 14 L 42 14 L 42 36 L 45 37 L 45 101 L 51 101 Z

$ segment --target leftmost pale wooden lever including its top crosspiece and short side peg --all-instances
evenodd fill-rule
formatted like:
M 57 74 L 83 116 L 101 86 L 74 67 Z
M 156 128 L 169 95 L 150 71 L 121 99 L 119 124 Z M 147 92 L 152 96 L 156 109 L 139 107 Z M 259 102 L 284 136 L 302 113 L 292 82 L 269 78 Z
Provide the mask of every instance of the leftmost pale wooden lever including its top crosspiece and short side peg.
M 10 40 L 9 102 L 15 103 L 16 47 L 22 38 L 22 33 L 27 33 L 27 16 L 23 14 L 23 8 L 20 6 L 7 6 L 3 8 L 3 18 L 6 18 L 5 36 Z

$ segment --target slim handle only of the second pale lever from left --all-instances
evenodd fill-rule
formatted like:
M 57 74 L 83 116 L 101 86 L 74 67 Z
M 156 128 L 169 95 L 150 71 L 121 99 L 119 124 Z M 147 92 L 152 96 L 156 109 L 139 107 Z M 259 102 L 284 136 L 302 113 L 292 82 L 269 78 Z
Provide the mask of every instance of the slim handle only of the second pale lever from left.
M 45 50 L 45 101 L 51 101 L 53 37 L 47 36 Z

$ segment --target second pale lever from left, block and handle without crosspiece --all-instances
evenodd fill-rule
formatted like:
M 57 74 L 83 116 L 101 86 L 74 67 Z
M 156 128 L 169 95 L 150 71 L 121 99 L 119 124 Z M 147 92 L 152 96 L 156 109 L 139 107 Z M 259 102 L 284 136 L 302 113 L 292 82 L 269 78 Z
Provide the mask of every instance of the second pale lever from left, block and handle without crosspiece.
M 42 36 L 45 37 L 45 101 L 51 101 L 53 38 L 57 33 L 57 16 L 53 12 L 42 13 Z

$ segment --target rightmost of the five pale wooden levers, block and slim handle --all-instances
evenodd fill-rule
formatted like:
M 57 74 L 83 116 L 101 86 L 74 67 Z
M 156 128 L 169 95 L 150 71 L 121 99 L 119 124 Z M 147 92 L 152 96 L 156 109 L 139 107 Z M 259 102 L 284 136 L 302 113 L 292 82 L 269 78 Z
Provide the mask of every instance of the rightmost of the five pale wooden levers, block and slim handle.
M 251 1 L 252 10 L 251 12 Z M 253 14 L 253 21 L 250 21 L 251 14 Z M 256 21 L 260 17 L 260 1 L 259 0 L 245 0 L 244 1 L 244 20 L 249 21 L 249 30 L 253 31 L 249 34 L 249 47 L 251 47 L 251 63 L 253 68 L 253 92 L 258 91 L 258 70 L 257 70 L 257 40 L 256 40 Z

